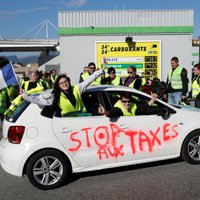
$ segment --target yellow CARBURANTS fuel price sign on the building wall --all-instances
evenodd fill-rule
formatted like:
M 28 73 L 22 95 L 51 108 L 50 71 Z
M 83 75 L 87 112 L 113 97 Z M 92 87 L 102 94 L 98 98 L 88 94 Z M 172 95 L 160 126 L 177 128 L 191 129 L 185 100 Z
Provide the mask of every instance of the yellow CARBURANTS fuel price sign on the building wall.
M 104 58 L 108 61 L 108 67 L 114 67 L 120 77 L 127 76 L 127 68 L 134 66 L 139 75 L 145 72 L 146 77 L 153 74 L 160 78 L 160 41 L 96 42 L 98 68 L 102 68 Z

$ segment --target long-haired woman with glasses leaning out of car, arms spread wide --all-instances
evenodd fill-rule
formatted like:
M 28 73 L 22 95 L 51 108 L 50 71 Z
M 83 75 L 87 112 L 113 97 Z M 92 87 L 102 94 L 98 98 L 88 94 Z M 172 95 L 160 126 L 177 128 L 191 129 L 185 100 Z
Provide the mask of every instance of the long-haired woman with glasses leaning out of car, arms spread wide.
M 43 115 L 48 115 L 48 117 L 53 117 L 54 113 L 56 117 L 77 116 L 84 109 L 81 94 L 88 85 L 101 76 L 106 68 L 106 64 L 104 63 L 102 70 L 95 71 L 85 81 L 75 85 L 71 85 L 70 78 L 65 74 L 59 75 L 56 79 L 54 90 L 48 97 L 27 95 L 26 93 L 23 94 L 23 97 L 29 102 L 50 106 L 47 109 L 47 113 L 43 113 Z M 49 114 L 49 111 L 52 115 Z

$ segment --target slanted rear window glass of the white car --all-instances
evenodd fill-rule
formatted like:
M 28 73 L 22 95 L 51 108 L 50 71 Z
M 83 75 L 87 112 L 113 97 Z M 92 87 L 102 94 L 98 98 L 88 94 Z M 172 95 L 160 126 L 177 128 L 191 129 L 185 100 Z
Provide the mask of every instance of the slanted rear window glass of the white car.
M 18 105 L 14 111 L 9 112 L 5 119 L 10 122 L 16 122 L 19 116 L 24 112 L 24 110 L 30 105 L 30 102 L 23 101 L 20 105 Z

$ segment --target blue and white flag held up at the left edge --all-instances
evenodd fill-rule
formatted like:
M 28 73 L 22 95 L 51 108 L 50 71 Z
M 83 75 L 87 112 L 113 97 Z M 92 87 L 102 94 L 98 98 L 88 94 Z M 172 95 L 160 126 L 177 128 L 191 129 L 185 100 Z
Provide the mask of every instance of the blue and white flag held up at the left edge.
M 6 57 L 0 57 L 0 89 L 18 84 L 12 63 Z

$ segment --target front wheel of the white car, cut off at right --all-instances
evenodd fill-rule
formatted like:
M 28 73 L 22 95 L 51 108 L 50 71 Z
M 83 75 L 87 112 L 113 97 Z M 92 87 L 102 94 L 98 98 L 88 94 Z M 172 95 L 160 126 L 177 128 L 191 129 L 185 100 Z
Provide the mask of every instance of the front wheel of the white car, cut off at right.
M 185 138 L 181 157 L 188 163 L 200 164 L 200 130 L 191 132 Z

